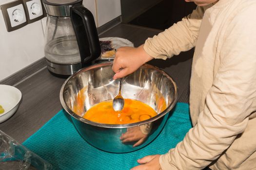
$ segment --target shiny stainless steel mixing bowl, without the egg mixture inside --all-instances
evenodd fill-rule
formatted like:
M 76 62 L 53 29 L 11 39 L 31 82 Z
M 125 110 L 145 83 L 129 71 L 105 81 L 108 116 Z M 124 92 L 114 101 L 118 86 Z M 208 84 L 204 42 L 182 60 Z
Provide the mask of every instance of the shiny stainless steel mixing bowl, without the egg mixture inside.
M 148 104 L 158 113 L 157 116 L 130 124 L 103 124 L 82 118 L 93 105 L 113 100 L 118 94 L 118 80 L 113 80 L 112 64 L 100 63 L 70 76 L 61 87 L 60 102 L 71 115 L 80 136 L 89 144 L 111 153 L 127 153 L 146 146 L 161 132 L 169 111 L 177 102 L 177 85 L 164 71 L 144 64 L 136 72 L 124 77 L 121 94 L 123 98 Z M 79 91 L 83 94 L 84 104 L 75 113 Z M 139 133 L 144 137 L 123 143 L 120 136 L 125 133 Z M 133 147 L 135 143 L 138 146 Z

